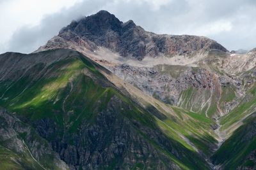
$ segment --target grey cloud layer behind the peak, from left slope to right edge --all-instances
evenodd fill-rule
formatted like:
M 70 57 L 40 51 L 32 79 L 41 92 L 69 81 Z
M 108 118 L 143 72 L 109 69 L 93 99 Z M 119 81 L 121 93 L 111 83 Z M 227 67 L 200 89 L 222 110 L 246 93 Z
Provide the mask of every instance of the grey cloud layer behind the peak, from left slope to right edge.
M 256 47 L 256 1 L 253 0 L 172 0 L 152 9 L 149 3 L 135 0 L 95 0 L 77 3 L 60 13 L 45 16 L 35 27 L 23 27 L 9 42 L 10 51 L 33 52 L 48 39 L 58 34 L 61 27 L 71 20 L 91 15 L 99 10 L 108 10 L 124 22 L 134 20 L 147 31 L 159 34 L 199 34 L 215 39 L 228 50 Z M 204 34 L 205 25 L 215 22 L 230 22 L 231 29 Z M 218 29 L 218 25 L 216 26 Z M 199 32 L 198 32 L 199 31 Z M 202 31 L 202 33 L 200 32 Z

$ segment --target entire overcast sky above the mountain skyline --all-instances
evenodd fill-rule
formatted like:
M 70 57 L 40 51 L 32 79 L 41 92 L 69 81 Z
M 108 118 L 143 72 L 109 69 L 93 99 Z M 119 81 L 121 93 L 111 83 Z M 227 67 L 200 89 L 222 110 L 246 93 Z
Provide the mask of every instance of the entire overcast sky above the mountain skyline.
M 256 0 L 0 0 L 0 53 L 33 52 L 99 10 L 158 34 L 207 36 L 228 50 L 256 47 Z

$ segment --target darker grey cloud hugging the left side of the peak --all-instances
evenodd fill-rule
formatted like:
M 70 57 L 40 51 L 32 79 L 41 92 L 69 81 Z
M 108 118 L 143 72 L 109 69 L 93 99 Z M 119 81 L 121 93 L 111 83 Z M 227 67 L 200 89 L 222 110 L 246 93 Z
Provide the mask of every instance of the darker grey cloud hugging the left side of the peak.
M 72 20 L 83 17 L 84 15 L 95 13 L 95 9 L 100 8 L 99 4 L 104 1 L 89 3 L 77 3 L 72 8 L 61 10 L 60 13 L 47 15 L 35 27 L 22 27 L 16 31 L 8 43 L 8 51 L 30 53 L 39 46 L 44 45 L 52 36 L 58 34 L 60 29 L 69 24 Z M 99 4 L 98 4 L 99 3 Z

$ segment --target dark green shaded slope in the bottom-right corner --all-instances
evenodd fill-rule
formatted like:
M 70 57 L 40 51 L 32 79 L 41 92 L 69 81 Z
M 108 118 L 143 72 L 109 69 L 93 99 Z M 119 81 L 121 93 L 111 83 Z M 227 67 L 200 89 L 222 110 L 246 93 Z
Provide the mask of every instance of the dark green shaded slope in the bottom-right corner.
M 244 120 L 244 124 L 221 145 L 212 156 L 215 164 L 224 169 L 255 169 L 256 152 L 256 115 Z

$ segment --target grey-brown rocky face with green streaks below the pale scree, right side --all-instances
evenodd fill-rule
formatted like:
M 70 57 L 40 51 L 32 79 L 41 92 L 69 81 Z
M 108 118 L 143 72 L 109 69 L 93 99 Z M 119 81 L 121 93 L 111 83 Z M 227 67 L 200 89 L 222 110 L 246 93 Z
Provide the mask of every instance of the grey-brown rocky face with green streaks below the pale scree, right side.
M 196 62 L 195 66 L 157 64 L 141 67 L 125 63 L 107 67 L 123 80 L 164 103 L 207 117 L 219 117 L 234 109 L 255 84 L 253 70 L 256 55 L 239 55 L 237 59 L 240 62 L 235 62 L 232 60 L 234 55 L 213 53 Z

